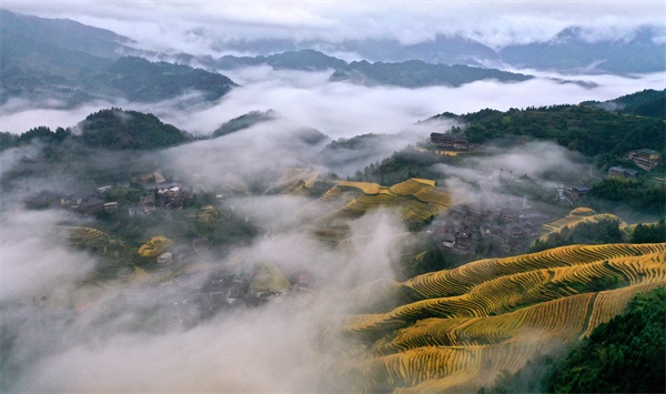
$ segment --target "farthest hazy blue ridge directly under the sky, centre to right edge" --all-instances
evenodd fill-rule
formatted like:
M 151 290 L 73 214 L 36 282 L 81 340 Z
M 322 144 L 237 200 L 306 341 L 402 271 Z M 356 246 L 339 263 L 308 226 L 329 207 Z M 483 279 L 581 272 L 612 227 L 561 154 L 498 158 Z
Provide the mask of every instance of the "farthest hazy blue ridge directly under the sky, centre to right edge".
M 259 40 L 221 43 L 230 51 L 270 54 L 316 48 L 326 53 L 347 53 L 370 62 L 422 60 L 433 64 L 464 64 L 493 68 L 532 68 L 565 73 L 643 73 L 666 70 L 666 43 L 658 33 L 644 27 L 628 40 L 602 39 L 591 42 L 578 27 L 564 29 L 553 39 L 528 44 L 492 49 L 462 37 L 437 36 L 432 41 L 403 44 L 397 40 L 292 42 Z

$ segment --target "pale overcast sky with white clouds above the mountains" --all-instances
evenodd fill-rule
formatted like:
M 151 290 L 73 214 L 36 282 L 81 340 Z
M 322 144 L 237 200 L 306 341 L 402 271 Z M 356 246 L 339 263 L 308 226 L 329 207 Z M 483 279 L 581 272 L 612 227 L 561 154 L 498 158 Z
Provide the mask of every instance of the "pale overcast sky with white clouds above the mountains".
M 0 7 L 111 29 L 153 49 L 214 53 L 254 39 L 393 38 L 410 44 L 461 34 L 493 48 L 545 41 L 569 26 L 591 40 L 626 38 L 638 26 L 664 29 L 659 1 L 30 1 Z M 199 52 L 199 53 L 195 53 Z

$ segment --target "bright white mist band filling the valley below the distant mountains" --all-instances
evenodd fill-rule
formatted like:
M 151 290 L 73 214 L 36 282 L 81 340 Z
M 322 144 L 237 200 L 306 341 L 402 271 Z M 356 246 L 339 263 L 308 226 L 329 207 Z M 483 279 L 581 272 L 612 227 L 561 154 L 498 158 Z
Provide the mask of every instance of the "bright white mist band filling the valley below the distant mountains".
M 517 70 L 521 71 L 521 70 Z M 576 75 L 576 81 L 596 83 L 585 88 L 559 83 L 566 75 L 542 73 L 521 83 L 477 81 L 460 88 L 430 87 L 404 89 L 363 87 L 330 82 L 330 72 L 273 70 L 269 67 L 225 70 L 241 87 L 214 103 L 189 97 L 159 103 L 131 103 L 109 98 L 74 109 L 59 103 L 32 103 L 10 100 L 0 108 L 2 131 L 21 133 L 37 125 L 71 127 L 87 114 L 110 107 L 151 112 L 162 121 L 196 135 L 210 135 L 220 124 L 250 111 L 269 109 L 300 124 L 319 129 L 332 139 L 367 133 L 396 133 L 420 120 L 448 111 L 475 112 L 483 108 L 509 108 L 605 101 L 642 89 L 659 88 L 664 73 L 645 75 Z M 548 92 L 544 94 L 543 92 Z

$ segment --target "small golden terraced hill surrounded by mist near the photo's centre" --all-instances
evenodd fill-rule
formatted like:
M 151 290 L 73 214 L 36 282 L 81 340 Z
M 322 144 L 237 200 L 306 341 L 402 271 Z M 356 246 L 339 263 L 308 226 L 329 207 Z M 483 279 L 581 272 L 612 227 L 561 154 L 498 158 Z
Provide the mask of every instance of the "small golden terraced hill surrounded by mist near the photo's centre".
M 376 183 L 339 181 L 322 198 L 301 210 L 317 225 L 355 219 L 380 206 L 406 222 L 421 222 L 451 205 L 451 194 L 434 181 L 410 179 L 391 188 Z

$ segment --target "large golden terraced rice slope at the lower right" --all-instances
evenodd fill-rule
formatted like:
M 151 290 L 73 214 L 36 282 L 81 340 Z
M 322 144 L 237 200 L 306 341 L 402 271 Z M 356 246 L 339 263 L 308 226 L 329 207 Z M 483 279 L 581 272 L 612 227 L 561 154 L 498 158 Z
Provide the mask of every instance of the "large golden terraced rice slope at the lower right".
M 537 352 L 579 341 L 635 294 L 664 285 L 666 243 L 481 260 L 404 283 L 377 282 L 374 297 L 402 304 L 347 316 L 339 333 L 347 340 L 330 345 L 360 391 L 475 392 Z

